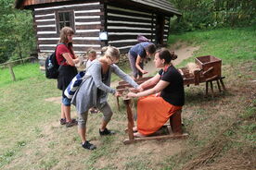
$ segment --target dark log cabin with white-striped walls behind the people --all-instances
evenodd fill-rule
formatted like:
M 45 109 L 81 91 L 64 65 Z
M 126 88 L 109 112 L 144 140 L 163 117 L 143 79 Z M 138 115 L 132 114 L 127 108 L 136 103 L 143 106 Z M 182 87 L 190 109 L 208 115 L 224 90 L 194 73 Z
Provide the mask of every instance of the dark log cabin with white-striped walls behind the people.
M 78 55 L 90 47 L 100 54 L 106 45 L 125 54 L 137 43 L 137 35 L 165 46 L 170 18 L 182 15 L 168 0 L 16 0 L 15 7 L 32 10 L 40 60 L 54 52 L 64 26 L 75 31 Z

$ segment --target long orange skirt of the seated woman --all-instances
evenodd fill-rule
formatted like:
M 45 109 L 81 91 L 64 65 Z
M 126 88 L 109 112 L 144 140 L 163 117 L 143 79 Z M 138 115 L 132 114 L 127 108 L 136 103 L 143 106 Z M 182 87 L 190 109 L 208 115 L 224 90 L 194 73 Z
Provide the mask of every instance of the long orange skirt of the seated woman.
M 167 103 L 155 94 L 141 97 L 137 102 L 137 129 L 143 135 L 158 131 L 182 106 Z

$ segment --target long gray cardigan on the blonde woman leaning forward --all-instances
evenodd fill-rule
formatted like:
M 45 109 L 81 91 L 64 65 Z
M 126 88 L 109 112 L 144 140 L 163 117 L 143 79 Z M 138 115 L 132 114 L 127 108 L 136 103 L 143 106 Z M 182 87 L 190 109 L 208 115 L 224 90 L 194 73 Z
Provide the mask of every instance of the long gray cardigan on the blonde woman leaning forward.
M 98 104 L 107 103 L 109 92 L 115 93 L 115 90 L 109 87 L 112 72 L 131 84 L 134 88 L 138 87 L 134 79 L 114 64 L 109 66 L 109 77 L 103 82 L 101 78 L 101 64 L 98 60 L 94 60 L 86 70 L 88 78 L 83 81 L 80 89 L 75 92 L 71 101 L 76 106 L 78 114 L 83 114 L 89 108 Z M 97 96 L 97 89 L 101 90 L 100 96 Z

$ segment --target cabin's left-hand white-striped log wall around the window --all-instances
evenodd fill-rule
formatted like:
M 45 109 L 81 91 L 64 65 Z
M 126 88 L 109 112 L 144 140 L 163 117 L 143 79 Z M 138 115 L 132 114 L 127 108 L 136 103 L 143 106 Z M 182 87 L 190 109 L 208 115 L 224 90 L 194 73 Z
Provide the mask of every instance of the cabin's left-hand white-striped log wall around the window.
M 57 14 L 70 11 L 74 17 L 73 46 L 76 54 L 93 47 L 100 54 L 103 42 L 99 31 L 104 29 L 104 6 L 100 2 L 34 8 L 36 37 L 40 53 L 53 53 L 59 40 Z

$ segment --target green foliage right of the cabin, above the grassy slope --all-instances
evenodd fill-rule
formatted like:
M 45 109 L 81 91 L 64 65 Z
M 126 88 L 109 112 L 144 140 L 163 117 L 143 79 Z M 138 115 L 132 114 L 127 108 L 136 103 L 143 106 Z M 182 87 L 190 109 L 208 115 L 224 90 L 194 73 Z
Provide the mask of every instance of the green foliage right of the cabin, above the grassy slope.
M 170 0 L 182 12 L 173 31 L 244 27 L 255 24 L 255 0 Z

